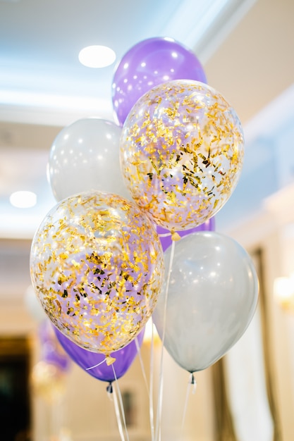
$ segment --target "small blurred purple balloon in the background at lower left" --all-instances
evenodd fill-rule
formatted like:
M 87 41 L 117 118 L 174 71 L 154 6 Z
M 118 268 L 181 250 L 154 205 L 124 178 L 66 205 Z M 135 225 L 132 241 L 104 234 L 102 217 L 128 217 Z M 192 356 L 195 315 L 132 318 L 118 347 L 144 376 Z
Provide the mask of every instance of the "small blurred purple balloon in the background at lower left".
M 35 296 L 36 297 L 36 296 Z M 41 306 L 40 306 L 41 307 Z M 48 364 L 54 364 L 60 371 L 68 371 L 70 359 L 63 351 L 52 329 L 51 321 L 46 320 L 39 325 L 39 341 L 41 343 L 41 359 Z

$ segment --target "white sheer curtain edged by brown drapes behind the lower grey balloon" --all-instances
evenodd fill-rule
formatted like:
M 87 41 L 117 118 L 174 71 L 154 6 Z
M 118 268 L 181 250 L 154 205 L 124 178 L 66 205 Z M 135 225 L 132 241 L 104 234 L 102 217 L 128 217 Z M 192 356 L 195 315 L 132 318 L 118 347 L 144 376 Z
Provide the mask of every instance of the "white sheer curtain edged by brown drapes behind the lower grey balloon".
M 259 306 L 245 335 L 212 366 L 216 441 L 282 441 L 262 250 L 252 253 Z

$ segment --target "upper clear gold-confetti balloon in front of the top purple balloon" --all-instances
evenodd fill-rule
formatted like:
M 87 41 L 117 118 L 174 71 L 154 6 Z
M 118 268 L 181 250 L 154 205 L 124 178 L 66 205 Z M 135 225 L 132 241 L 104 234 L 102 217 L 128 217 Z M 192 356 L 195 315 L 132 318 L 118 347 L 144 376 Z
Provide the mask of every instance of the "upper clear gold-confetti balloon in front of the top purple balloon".
M 231 196 L 243 165 L 233 108 L 201 82 L 174 80 L 140 98 L 121 135 L 121 170 L 134 201 L 170 231 L 189 230 Z

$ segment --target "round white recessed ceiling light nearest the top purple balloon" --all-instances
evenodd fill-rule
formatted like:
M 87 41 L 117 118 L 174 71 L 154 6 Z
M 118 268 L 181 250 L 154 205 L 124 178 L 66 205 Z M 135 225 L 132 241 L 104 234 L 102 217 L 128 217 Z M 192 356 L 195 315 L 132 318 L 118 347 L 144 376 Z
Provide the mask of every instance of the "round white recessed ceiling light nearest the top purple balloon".
M 80 51 L 78 59 L 87 68 L 105 68 L 114 63 L 116 54 L 107 46 L 87 46 Z

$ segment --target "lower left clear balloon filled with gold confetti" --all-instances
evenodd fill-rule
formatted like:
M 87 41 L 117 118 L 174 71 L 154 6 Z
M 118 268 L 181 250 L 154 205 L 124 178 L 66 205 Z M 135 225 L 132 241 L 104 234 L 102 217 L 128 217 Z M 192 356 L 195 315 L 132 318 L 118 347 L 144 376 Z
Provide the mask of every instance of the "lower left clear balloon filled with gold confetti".
M 154 225 L 116 194 L 63 199 L 35 232 L 30 273 L 61 333 L 109 354 L 135 338 L 157 302 L 164 257 Z

